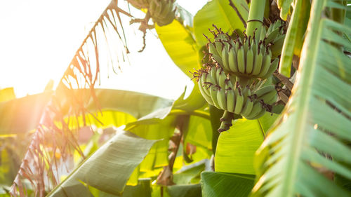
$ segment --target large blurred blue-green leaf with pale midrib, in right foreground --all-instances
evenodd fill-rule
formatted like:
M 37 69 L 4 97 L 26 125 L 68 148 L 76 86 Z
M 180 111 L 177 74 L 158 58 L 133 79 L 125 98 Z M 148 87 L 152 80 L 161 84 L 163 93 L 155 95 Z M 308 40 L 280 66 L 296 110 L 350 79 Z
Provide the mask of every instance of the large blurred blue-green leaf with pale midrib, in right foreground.
M 277 125 L 256 152 L 258 180 L 251 196 L 351 196 L 332 181 L 351 179 L 351 60 L 340 32 L 351 28 L 326 18 L 338 6 L 312 1 L 296 83 Z

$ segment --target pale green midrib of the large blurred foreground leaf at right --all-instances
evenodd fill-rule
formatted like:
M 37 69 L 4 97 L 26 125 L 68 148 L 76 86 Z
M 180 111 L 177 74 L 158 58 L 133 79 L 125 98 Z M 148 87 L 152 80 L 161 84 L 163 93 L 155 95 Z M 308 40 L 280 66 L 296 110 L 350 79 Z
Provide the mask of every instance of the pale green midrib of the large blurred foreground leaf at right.
M 305 128 L 307 125 L 307 118 L 308 118 L 308 105 L 309 101 L 312 97 L 312 82 L 314 81 L 314 72 L 316 69 L 316 62 L 317 59 L 317 54 L 318 50 L 316 50 L 319 46 L 319 39 L 313 39 L 314 38 L 319 38 L 321 35 L 321 29 L 319 28 L 320 24 L 320 13 L 322 11 L 322 7 L 324 5 L 325 0 L 316 0 L 313 2 L 313 6 L 311 9 L 311 13 L 313 12 L 313 17 L 310 19 L 307 31 L 309 31 L 308 34 L 308 39 L 306 39 L 302 54 L 303 56 L 301 57 L 300 62 L 303 62 L 303 64 L 300 64 L 300 69 L 298 72 L 303 70 L 303 75 L 301 76 L 301 83 L 298 84 L 301 87 L 301 92 L 298 95 L 298 102 L 300 105 L 296 108 L 295 114 L 293 116 L 297 116 L 296 114 L 299 114 L 301 116 L 298 116 L 299 118 L 296 118 L 295 121 L 293 121 L 291 124 L 296 125 L 296 129 L 291 132 L 292 135 L 292 141 L 291 141 L 291 146 L 290 146 L 290 154 L 287 154 L 287 161 L 286 163 L 290 164 L 291 163 L 291 168 L 285 168 L 285 172 L 283 175 L 286 175 L 284 177 L 284 182 L 283 182 L 283 191 L 284 195 L 289 195 L 293 196 L 294 195 L 294 189 L 293 187 L 295 186 L 296 183 L 296 173 L 298 171 L 298 163 L 300 162 L 300 154 L 302 151 L 303 147 L 303 140 L 305 139 L 304 134 L 305 134 Z M 313 27 L 313 28 L 311 28 Z M 317 34 L 316 34 L 317 33 Z M 314 46 L 314 48 L 313 48 Z M 304 54 L 305 52 L 305 54 Z M 312 57 L 312 58 L 311 58 Z M 305 82 L 306 80 L 306 82 Z M 304 83 L 305 82 L 305 83 Z M 301 85 L 303 84 L 303 85 Z M 300 88 L 300 86 L 295 86 L 293 88 L 293 93 L 296 92 L 296 88 Z M 284 115 L 283 115 L 284 116 Z M 299 121 L 302 120 L 302 121 Z M 299 123 L 300 122 L 300 123 Z M 294 135 L 296 134 L 296 135 Z M 286 188 L 286 190 L 284 190 Z

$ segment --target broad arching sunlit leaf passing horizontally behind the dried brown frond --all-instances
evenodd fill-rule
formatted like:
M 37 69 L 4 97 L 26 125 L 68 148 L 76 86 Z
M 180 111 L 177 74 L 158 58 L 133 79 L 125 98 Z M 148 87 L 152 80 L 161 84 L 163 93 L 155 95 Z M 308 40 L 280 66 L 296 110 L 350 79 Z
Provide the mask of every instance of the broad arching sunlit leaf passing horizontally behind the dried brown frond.
M 90 90 L 81 91 L 88 93 Z M 95 93 L 102 113 L 95 113 L 98 109 L 92 100 L 88 103 L 87 110 L 95 113 L 94 116 L 100 121 L 96 121 L 91 114 L 87 114 L 86 119 L 91 124 L 105 128 L 112 124 L 117 126 L 135 121 L 157 109 L 171 107 L 173 104 L 173 100 L 125 90 L 96 89 Z M 0 102 L 0 134 L 27 133 L 37 128 L 51 94 L 41 93 Z M 84 95 L 88 100 L 88 94 Z M 64 102 L 62 106 L 65 106 L 65 98 L 60 100 Z M 67 111 L 65 116 L 68 116 Z M 80 117 L 80 120 L 80 125 L 84 125 L 83 118 Z M 75 118 L 72 118 L 71 124 L 77 126 L 77 122 L 74 121 Z

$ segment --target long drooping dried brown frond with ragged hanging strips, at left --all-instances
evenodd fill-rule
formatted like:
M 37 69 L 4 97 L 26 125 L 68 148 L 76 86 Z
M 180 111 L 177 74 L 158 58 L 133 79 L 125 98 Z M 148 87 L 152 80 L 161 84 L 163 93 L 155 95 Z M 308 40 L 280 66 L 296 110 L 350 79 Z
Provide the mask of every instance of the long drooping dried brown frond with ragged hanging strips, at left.
M 112 0 L 105 8 L 69 63 L 33 134 L 11 186 L 11 196 L 27 196 L 28 188 L 34 191 L 34 196 L 45 196 L 48 189 L 58 184 L 58 171 L 73 151 L 84 156 L 75 136 L 79 125 L 71 123 L 79 124 L 79 121 L 67 121 L 66 117 L 78 120 L 82 116 L 85 125 L 86 105 L 93 100 L 99 109 L 93 88 L 99 80 L 100 64 L 112 66 L 117 72 L 121 69 L 121 60 L 126 61 L 129 52 L 121 13 L 131 15 L 117 4 L 117 0 Z M 89 95 L 85 88 L 91 90 Z

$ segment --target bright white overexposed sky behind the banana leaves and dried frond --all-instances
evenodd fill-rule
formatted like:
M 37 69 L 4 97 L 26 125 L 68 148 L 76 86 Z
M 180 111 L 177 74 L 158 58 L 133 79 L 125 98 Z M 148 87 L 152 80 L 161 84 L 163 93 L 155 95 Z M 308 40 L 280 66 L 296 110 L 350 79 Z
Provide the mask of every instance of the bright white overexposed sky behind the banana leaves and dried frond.
M 177 3 L 195 15 L 206 1 Z M 41 93 L 50 79 L 57 85 L 109 3 L 110 0 L 0 0 L 0 89 L 14 87 L 16 96 L 23 97 Z M 131 11 L 143 17 L 136 9 Z M 147 33 L 143 53 L 137 52 L 142 46 L 137 27 L 130 28 L 135 49 L 128 55 L 128 66 L 119 74 L 109 72 L 108 78 L 107 72 L 102 72 L 100 88 L 133 90 L 169 99 L 176 99 L 185 86 L 192 88 L 192 81 L 173 63 L 154 30 Z

